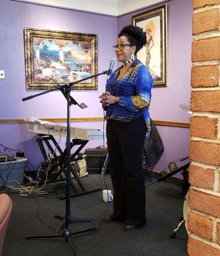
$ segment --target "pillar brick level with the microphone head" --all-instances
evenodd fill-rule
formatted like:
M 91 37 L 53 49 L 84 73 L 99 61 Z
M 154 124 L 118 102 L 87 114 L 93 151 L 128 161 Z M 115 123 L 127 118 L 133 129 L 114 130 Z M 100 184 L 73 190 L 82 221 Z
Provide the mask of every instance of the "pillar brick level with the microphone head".
M 217 65 L 193 67 L 192 87 L 214 87 L 219 85 L 219 67 Z

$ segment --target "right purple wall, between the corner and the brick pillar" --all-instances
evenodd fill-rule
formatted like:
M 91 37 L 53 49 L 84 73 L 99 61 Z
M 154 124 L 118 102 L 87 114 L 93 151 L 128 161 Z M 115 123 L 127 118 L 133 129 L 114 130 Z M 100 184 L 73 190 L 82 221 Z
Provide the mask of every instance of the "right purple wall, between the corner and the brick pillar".
M 189 114 L 179 104 L 190 104 L 191 93 L 191 19 L 193 6 L 191 0 L 173 0 L 151 6 L 138 12 L 118 17 L 118 32 L 131 24 L 131 17 L 138 13 L 167 4 L 167 87 L 152 89 L 150 116 L 153 120 L 189 122 Z M 189 129 L 158 127 L 165 146 L 165 152 L 156 165 L 156 171 L 164 170 L 168 163 L 188 156 Z M 182 164 L 181 164 L 182 165 Z M 176 175 L 181 177 L 180 174 Z

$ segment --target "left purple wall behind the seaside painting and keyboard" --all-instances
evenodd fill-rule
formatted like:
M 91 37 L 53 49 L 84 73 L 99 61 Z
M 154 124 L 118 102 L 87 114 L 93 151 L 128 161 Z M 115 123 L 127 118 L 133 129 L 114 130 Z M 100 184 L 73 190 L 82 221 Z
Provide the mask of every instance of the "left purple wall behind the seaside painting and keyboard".
M 0 80 L 0 119 L 2 118 L 65 118 L 66 101 L 60 92 L 22 102 L 22 98 L 39 91 L 26 90 L 24 60 L 24 28 L 54 29 L 98 35 L 98 71 L 106 70 L 114 56 L 112 45 L 117 38 L 117 18 L 73 10 L 64 10 L 38 4 L 1 0 L 0 15 L 0 69 L 5 79 Z M 103 110 L 98 96 L 105 90 L 106 76 L 98 77 L 98 90 L 73 91 L 78 102 L 89 108 L 71 107 L 71 117 L 100 117 Z M 79 127 L 102 129 L 102 122 L 74 123 Z M 41 153 L 34 141 L 35 134 L 26 131 L 25 124 L 0 124 L 0 143 L 24 150 L 34 166 L 41 163 Z M 64 147 L 64 140 L 61 145 Z M 102 141 L 89 141 L 87 147 L 103 145 Z M 0 148 L 1 149 L 1 148 Z

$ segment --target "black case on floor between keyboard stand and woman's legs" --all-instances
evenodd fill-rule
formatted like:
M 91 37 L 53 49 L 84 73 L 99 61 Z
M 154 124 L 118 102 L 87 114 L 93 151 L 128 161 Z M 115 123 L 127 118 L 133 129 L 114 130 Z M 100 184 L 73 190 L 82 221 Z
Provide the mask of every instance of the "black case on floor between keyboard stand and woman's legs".
M 85 149 L 85 158 L 87 163 L 87 171 L 92 173 L 101 173 L 105 163 L 108 150 L 106 148 L 87 148 Z M 106 172 L 109 173 L 109 166 L 106 166 Z

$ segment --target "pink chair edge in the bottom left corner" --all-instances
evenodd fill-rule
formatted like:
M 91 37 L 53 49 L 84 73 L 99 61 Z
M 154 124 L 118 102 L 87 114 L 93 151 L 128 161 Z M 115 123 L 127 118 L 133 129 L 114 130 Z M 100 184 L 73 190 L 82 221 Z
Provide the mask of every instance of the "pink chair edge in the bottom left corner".
M 0 256 L 3 252 L 4 236 L 11 214 L 11 198 L 6 194 L 0 194 Z

